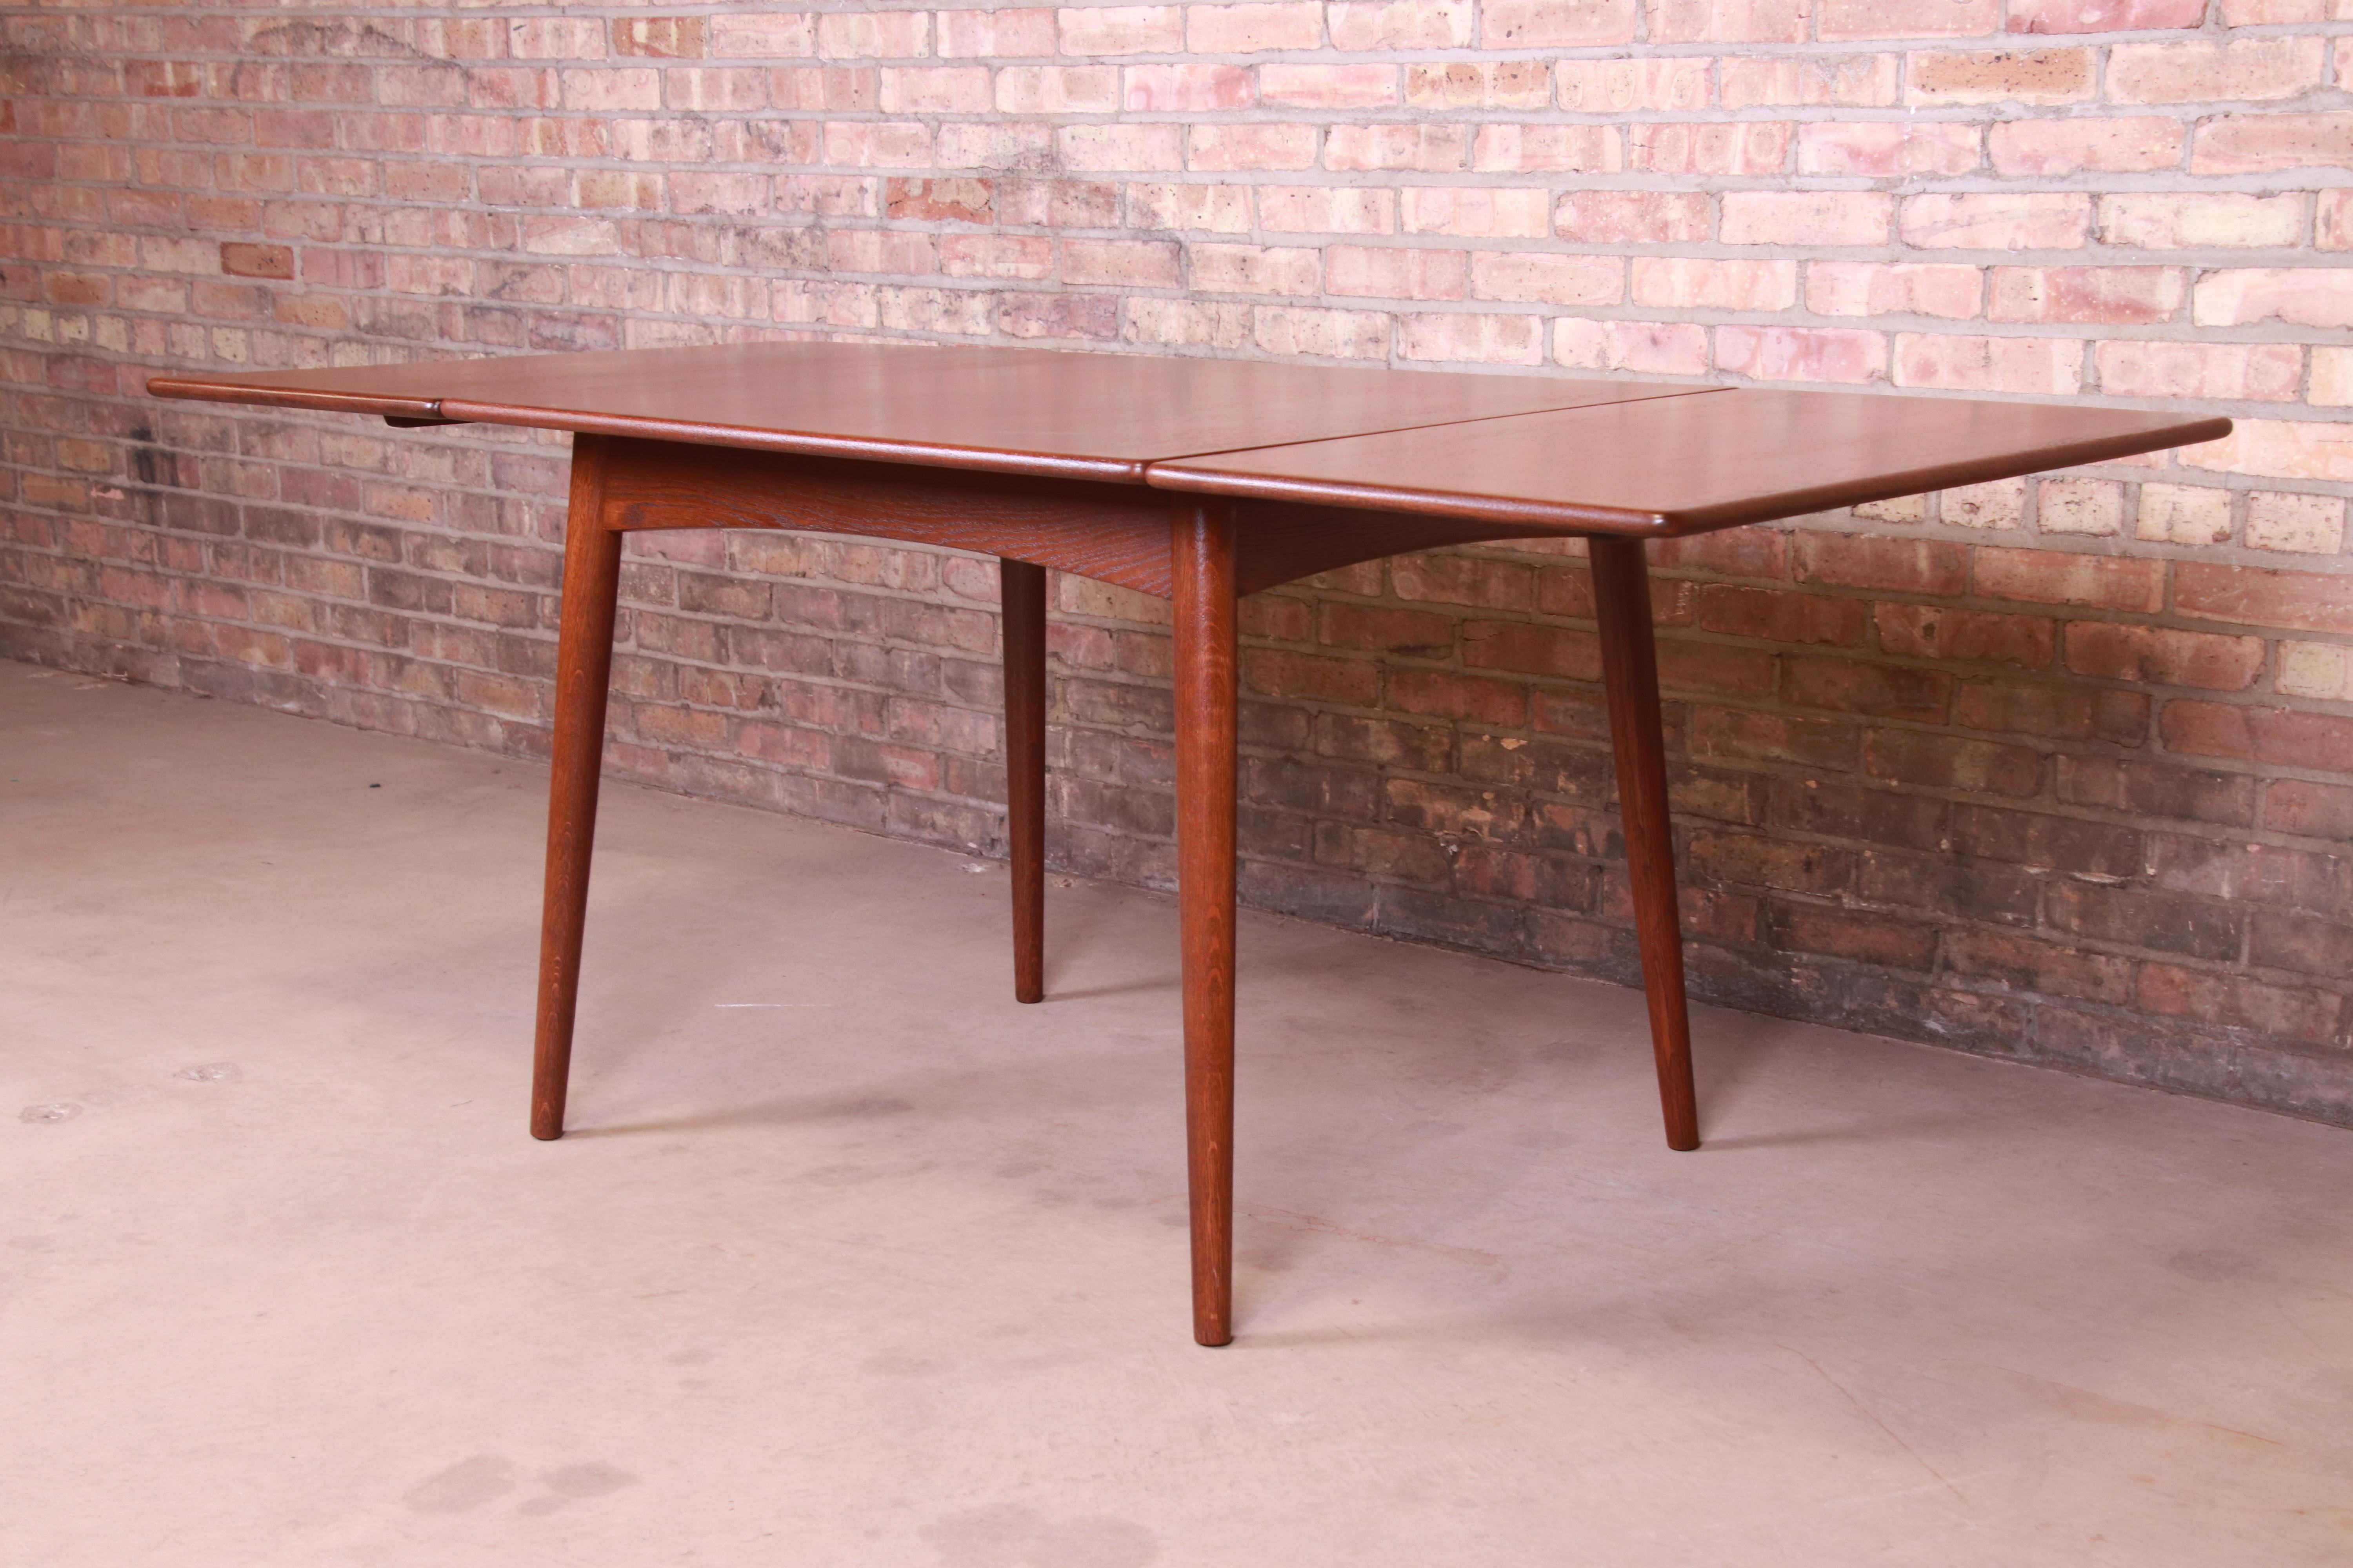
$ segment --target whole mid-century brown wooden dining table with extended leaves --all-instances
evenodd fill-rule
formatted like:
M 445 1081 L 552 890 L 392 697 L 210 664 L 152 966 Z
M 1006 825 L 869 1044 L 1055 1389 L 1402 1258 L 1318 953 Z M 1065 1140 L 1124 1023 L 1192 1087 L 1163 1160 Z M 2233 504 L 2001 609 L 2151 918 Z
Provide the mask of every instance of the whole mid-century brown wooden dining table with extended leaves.
M 1233 1338 L 1235 602 L 1584 536 L 1666 1140 L 1699 1147 L 1645 538 L 2207 442 L 2226 418 L 1021 348 L 744 343 L 155 376 L 160 397 L 572 430 L 532 1135 L 560 1138 L 621 534 L 807 529 L 1000 559 L 1014 994 L 1045 945 L 1045 574 L 1174 599 L 1193 1338 Z

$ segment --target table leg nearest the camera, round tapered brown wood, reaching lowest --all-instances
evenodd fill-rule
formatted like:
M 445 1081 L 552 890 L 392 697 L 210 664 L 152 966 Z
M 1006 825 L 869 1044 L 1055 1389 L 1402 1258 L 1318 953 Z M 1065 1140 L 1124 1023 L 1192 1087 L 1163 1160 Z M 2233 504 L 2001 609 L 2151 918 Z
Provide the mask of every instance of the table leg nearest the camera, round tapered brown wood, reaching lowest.
M 1176 900 L 1184 922 L 1193 1338 L 1233 1338 L 1233 510 L 1184 498 L 1176 576 Z

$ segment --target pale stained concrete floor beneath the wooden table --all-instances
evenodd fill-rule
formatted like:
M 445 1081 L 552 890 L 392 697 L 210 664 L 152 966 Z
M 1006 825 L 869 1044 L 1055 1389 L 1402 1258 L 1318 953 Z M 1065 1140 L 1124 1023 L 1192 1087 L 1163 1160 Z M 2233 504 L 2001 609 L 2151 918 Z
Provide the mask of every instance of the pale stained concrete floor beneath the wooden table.
M 1174 907 L 0 663 L 0 1563 L 2353 1559 L 2353 1133 L 1245 919 L 1240 1340 Z

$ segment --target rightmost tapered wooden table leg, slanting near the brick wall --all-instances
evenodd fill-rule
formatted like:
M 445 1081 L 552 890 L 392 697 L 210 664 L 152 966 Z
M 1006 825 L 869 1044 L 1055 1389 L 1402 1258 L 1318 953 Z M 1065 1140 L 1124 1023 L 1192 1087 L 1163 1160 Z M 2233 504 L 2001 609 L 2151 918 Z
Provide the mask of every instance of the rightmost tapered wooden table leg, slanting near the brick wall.
M 1675 910 L 1675 837 L 1666 816 L 1666 738 L 1659 729 L 1659 649 L 1649 623 L 1649 567 L 1640 538 L 1593 538 L 1593 607 L 1602 632 L 1602 684 L 1617 750 L 1626 872 L 1642 947 L 1649 1044 L 1659 1056 L 1666 1147 L 1699 1147 L 1692 1020 L 1682 999 L 1682 917 Z

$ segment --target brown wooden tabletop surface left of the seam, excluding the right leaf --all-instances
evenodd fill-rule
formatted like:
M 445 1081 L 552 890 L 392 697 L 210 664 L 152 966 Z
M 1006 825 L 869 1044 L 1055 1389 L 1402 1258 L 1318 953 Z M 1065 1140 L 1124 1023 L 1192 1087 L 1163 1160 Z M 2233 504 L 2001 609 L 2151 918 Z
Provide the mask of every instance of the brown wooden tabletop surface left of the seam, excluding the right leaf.
M 1577 376 L 915 343 L 184 371 L 153 376 L 148 390 L 1122 484 L 1141 484 L 1144 465 L 1169 456 L 1692 393 Z

